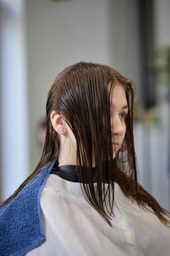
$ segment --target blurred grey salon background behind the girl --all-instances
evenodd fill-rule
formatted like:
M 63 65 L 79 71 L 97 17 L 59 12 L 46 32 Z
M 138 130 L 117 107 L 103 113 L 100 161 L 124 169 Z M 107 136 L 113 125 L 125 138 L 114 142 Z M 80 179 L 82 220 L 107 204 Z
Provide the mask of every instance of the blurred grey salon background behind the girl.
M 134 80 L 139 182 L 170 210 L 170 1 L 0 0 L 0 197 L 36 167 L 47 91 L 77 61 Z

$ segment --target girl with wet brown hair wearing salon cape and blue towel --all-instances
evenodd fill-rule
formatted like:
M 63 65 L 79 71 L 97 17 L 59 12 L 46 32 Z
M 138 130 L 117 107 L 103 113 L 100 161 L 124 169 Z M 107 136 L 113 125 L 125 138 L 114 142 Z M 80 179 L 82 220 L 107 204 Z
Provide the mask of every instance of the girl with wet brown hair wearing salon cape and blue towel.
M 168 214 L 137 183 L 133 101 L 106 65 L 55 78 L 42 157 L 1 205 L 1 256 L 169 255 Z

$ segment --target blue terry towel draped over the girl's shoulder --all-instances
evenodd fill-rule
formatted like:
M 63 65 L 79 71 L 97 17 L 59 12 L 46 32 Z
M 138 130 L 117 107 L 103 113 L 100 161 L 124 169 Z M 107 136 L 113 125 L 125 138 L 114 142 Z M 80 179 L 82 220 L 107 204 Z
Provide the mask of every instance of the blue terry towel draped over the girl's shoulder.
M 0 211 L 0 255 L 19 256 L 45 241 L 40 195 L 55 161 L 42 168 Z

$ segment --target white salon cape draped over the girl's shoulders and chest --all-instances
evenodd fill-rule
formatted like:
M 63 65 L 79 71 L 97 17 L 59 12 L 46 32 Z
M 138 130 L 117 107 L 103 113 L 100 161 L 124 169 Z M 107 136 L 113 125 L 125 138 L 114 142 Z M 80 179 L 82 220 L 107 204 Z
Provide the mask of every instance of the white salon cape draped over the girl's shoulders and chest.
M 169 256 L 170 229 L 115 184 L 112 227 L 86 202 L 80 184 L 50 174 L 42 190 L 46 241 L 27 256 Z

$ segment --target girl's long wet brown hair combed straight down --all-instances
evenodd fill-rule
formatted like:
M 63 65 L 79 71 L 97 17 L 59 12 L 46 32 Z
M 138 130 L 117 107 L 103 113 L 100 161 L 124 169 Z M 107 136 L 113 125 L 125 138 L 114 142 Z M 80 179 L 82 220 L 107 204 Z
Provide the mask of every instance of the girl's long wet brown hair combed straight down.
M 128 115 L 125 118 L 126 133 L 123 146 L 113 160 L 110 96 L 117 84 L 125 90 Z M 47 162 L 58 159 L 60 141 L 50 121 L 50 114 L 55 110 L 69 124 L 76 138 L 77 174 L 85 199 L 109 225 L 110 219 L 114 217 L 115 181 L 126 197 L 134 200 L 144 210 L 152 211 L 163 224 L 169 225 L 167 212 L 137 182 L 133 103 L 133 82 L 115 69 L 86 62 L 66 67 L 55 78 L 48 93 L 47 134 L 42 157 L 34 173 L 21 184 L 12 197 L 15 197 Z

